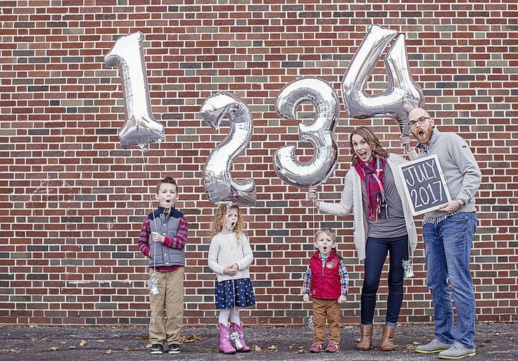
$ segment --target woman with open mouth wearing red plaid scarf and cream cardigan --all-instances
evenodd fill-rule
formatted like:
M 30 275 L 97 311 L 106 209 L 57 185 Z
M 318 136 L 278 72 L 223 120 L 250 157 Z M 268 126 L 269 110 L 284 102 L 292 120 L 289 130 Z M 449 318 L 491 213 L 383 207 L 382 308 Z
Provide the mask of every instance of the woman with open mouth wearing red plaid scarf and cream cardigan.
M 403 260 L 408 258 L 409 248 L 413 253 L 417 244 L 412 211 L 397 169 L 406 160 L 385 151 L 367 127 L 353 130 L 349 143 L 352 166 L 346 175 L 341 201 L 318 201 L 315 189 L 310 189 L 308 196 L 322 213 L 348 215 L 352 211 L 354 215 L 354 243 L 360 260 L 365 259 L 358 350 L 369 350 L 372 346 L 376 293 L 386 255 L 390 254 L 381 350 L 393 350 L 394 331 L 403 303 Z

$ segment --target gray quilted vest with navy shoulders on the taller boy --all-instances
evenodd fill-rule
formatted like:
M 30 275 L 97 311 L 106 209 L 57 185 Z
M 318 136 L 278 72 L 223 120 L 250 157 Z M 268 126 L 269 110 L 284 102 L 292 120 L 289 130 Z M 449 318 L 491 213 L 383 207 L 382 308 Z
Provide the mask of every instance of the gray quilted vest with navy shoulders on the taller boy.
M 149 228 L 151 232 L 158 232 L 166 237 L 176 237 L 178 233 L 178 226 L 180 220 L 184 215 L 177 210 L 172 208 L 170 213 L 164 214 L 164 209 L 158 207 L 158 209 L 149 214 Z M 165 246 L 163 243 L 153 241 L 151 235 L 149 236 L 149 267 L 171 267 L 171 266 L 184 266 L 184 248 L 170 248 Z

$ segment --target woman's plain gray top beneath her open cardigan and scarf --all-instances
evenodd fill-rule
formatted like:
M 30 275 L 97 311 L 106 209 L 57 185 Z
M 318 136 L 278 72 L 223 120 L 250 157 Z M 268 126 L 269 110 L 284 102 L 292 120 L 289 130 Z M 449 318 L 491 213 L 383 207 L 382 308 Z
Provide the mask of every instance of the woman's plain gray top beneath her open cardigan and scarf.
M 378 218 L 377 221 L 369 221 L 367 217 L 367 224 L 369 225 L 367 237 L 375 238 L 392 238 L 398 236 L 405 236 L 407 234 L 407 226 L 405 223 L 405 215 L 403 214 L 403 204 L 396 189 L 394 176 L 388 162 L 385 162 L 385 200 L 388 208 L 388 218 Z M 363 212 L 367 215 L 367 192 L 365 191 L 365 184 L 362 182 L 362 203 Z

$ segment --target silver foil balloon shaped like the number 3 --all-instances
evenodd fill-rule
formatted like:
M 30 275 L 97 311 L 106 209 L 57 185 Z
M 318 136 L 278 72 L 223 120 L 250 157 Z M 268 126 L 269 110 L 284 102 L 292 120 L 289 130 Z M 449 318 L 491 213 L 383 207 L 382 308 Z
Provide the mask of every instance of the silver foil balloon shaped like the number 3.
M 274 154 L 275 172 L 284 182 L 310 188 L 327 180 L 336 165 L 338 150 L 334 127 L 339 118 L 340 103 L 336 91 L 328 82 L 315 77 L 293 80 L 279 92 L 277 113 L 287 119 L 296 119 L 297 107 L 309 101 L 315 106 L 315 120 L 310 125 L 298 125 L 300 141 L 309 141 L 315 148 L 313 158 L 301 163 L 295 155 L 296 146 L 283 146 Z

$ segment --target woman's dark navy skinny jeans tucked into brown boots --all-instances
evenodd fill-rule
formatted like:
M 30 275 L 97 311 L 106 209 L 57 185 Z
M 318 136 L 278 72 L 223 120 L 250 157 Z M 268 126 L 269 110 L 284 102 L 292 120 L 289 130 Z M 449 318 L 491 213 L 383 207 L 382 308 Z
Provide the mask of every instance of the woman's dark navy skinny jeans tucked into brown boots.
M 408 257 L 408 235 L 392 238 L 367 238 L 365 246 L 365 279 L 362 286 L 361 324 L 370 325 L 376 308 L 381 270 L 389 253 L 388 298 L 386 324 L 396 327 L 401 303 L 403 303 L 403 260 Z

